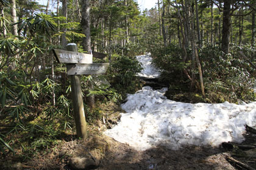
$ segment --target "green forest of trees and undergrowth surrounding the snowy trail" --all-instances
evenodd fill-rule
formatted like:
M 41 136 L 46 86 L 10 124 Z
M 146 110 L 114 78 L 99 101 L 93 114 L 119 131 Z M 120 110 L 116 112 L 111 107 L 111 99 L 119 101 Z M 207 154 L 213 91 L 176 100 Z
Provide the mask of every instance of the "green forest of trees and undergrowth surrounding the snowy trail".
M 143 87 L 137 55 L 151 53 L 170 100 L 256 100 L 255 0 L 158 0 L 143 11 L 136 0 L 0 0 L 0 10 L 4 169 L 62 169 L 68 154 L 57 153 L 68 142 L 93 147 L 98 135 L 104 143 L 120 104 Z M 105 54 L 93 63 L 109 63 L 105 74 L 79 76 L 86 135 L 76 135 L 71 79 L 53 52 L 69 43 Z M 105 150 L 95 152 L 104 157 Z

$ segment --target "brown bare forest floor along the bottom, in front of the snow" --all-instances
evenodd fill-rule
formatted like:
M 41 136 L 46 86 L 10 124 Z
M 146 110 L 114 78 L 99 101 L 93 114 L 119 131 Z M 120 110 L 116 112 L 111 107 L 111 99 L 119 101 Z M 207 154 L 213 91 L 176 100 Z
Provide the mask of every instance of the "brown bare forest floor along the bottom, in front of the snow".
M 2 157 L 1 169 L 73 169 L 72 157 L 90 157 L 98 160 L 93 169 L 256 169 L 256 135 L 254 131 L 244 134 L 246 141 L 240 145 L 222 144 L 219 148 L 184 146 L 173 151 L 166 146 L 157 146 L 146 151 L 137 151 L 129 144 L 119 143 L 102 134 L 119 120 L 121 108 L 116 104 L 104 106 L 105 121 L 89 126 L 87 140 L 78 140 L 74 134 L 63 136 L 58 146 L 48 146 L 37 152 L 29 161 Z M 108 115 L 108 116 L 107 116 Z M 105 123 L 104 123 L 105 122 Z M 223 147 L 224 146 L 224 147 Z M 51 150 L 45 154 L 46 150 Z M 2 164 L 2 165 L 1 165 Z

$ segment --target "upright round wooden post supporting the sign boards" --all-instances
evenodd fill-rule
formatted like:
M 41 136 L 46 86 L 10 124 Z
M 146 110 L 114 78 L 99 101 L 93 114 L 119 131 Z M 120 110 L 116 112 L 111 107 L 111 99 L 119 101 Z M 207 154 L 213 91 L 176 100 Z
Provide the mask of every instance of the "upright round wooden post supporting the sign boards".
M 77 52 L 76 44 L 66 45 L 66 50 Z M 71 90 L 74 109 L 74 118 L 76 122 L 77 137 L 87 138 L 87 123 L 85 121 L 84 103 L 82 98 L 82 89 L 80 83 L 80 75 L 71 75 Z

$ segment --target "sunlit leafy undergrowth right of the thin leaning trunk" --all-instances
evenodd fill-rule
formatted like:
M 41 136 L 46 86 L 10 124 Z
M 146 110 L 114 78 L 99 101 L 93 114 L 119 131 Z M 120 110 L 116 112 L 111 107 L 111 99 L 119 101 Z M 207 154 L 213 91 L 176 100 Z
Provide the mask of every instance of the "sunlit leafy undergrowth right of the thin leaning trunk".
M 225 54 L 218 47 L 207 46 L 199 52 L 208 98 L 215 102 L 254 101 L 255 69 L 240 55 L 244 52 L 255 63 L 249 46 L 231 46 Z

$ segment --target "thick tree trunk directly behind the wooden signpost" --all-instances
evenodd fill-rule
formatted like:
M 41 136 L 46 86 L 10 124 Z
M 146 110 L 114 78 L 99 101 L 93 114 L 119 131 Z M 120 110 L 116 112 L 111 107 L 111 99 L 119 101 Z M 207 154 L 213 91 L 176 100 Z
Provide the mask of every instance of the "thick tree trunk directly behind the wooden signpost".
M 90 30 L 90 0 L 84 0 L 82 2 L 82 20 L 81 20 L 81 25 L 82 25 L 82 30 L 83 33 L 85 34 L 85 38 L 83 39 L 83 47 L 84 50 L 87 51 L 88 53 L 91 53 L 91 30 Z M 93 83 L 88 82 L 88 86 L 90 90 L 93 90 Z M 88 101 L 88 106 L 91 108 L 94 107 L 94 95 L 90 95 L 87 97 Z

